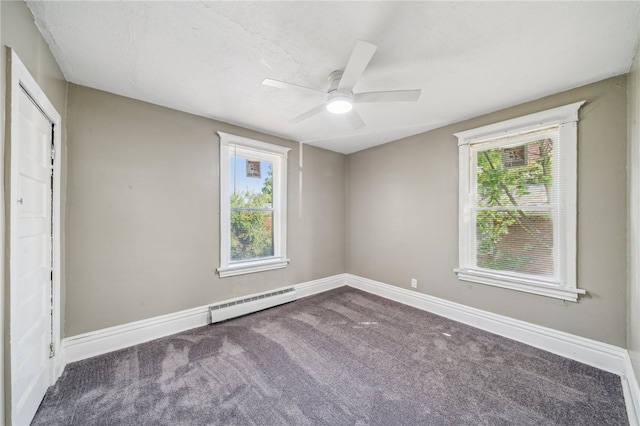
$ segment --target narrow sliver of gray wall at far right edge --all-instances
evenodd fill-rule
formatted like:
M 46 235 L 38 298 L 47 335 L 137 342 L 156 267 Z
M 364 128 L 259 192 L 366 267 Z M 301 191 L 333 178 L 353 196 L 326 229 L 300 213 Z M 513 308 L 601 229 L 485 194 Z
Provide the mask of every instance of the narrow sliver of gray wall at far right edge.
M 629 121 L 629 316 L 627 348 L 640 382 L 640 48 L 628 77 Z

